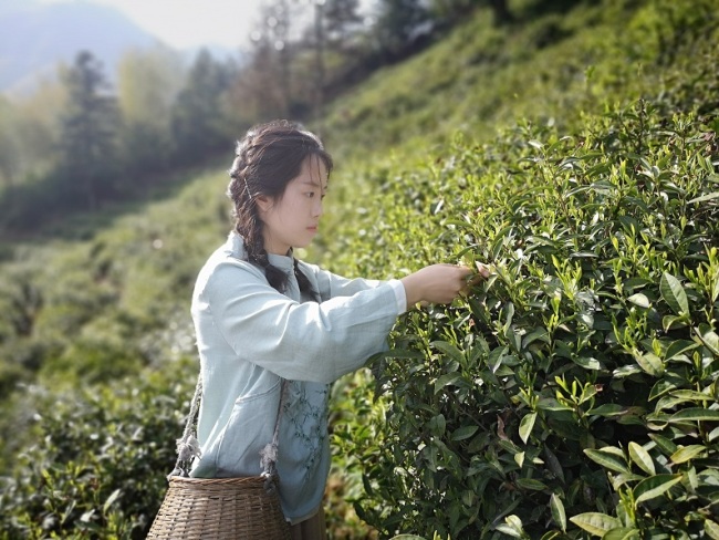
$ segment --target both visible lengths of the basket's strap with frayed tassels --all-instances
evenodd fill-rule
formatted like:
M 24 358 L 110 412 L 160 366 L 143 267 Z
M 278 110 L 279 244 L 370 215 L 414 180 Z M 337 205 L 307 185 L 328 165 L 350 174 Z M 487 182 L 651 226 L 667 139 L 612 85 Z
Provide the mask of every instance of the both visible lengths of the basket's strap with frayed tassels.
M 197 440 L 197 417 L 199 415 L 199 404 L 202 396 L 202 374 L 197 377 L 197 385 L 195 386 L 195 395 L 190 403 L 190 413 L 187 415 L 185 429 L 183 430 L 183 438 L 177 439 L 177 461 L 175 468 L 167 476 L 169 480 L 173 476 L 189 477 L 192 459 L 201 457 L 200 444 Z M 286 380 L 282 378 L 280 387 L 280 403 L 278 405 L 278 414 L 274 420 L 274 433 L 272 434 L 272 442 L 268 443 L 260 451 L 260 466 L 262 467 L 262 476 L 267 477 L 265 488 L 272 490 L 274 482 L 273 478 L 277 477 L 277 460 L 278 460 L 278 446 L 280 439 L 280 415 L 286 401 Z

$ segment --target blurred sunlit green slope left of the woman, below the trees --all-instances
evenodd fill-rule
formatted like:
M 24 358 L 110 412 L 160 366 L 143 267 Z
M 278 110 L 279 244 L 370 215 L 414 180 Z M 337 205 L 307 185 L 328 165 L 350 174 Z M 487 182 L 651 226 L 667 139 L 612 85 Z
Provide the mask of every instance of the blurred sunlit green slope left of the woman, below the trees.
M 24 402 L 10 399 L 27 392 L 20 383 L 112 384 L 195 353 L 188 302 L 197 269 L 228 230 L 223 185 L 221 174 L 200 175 L 105 230 L 101 217 L 83 224 L 95 229 L 90 239 L 18 246 L 3 263 L 0 471 L 25 443 Z

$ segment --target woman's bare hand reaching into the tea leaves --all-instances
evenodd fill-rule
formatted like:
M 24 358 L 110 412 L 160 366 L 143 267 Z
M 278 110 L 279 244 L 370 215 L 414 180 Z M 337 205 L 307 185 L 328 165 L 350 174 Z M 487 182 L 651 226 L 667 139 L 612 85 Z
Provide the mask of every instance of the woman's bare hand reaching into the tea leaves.
M 471 279 L 472 270 L 456 264 L 431 264 L 402 279 L 407 294 L 407 309 L 416 303 L 450 303 L 479 279 L 487 278 L 489 270 L 479 266 L 479 273 Z

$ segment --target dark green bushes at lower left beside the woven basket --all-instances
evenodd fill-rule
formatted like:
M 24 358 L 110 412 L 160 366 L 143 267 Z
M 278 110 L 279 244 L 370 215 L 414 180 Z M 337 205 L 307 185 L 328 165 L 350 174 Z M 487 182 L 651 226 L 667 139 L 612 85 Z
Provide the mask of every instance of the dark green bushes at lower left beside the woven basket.
M 168 366 L 169 367 L 169 366 Z M 32 390 L 37 443 L 2 480 L 0 538 L 143 539 L 173 468 L 195 362 L 55 395 Z

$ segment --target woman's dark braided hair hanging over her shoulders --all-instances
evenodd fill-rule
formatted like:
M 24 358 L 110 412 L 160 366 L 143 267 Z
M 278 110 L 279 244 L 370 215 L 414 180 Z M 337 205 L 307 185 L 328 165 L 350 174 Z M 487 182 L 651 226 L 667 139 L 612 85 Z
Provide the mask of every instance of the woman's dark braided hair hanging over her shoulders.
M 267 196 L 280 200 L 286 185 L 296 178 L 309 157 L 322 159 L 332 170 L 332 157 L 320 138 L 300 124 L 274 121 L 250 128 L 237 143 L 235 162 L 229 170 L 230 184 L 227 195 L 235 204 L 235 230 L 244 240 L 247 259 L 264 270 L 269 283 L 284 292 L 288 277 L 270 264 L 262 237 L 257 197 Z M 296 259 L 294 273 L 300 291 L 316 298 L 308 278 L 300 271 Z

